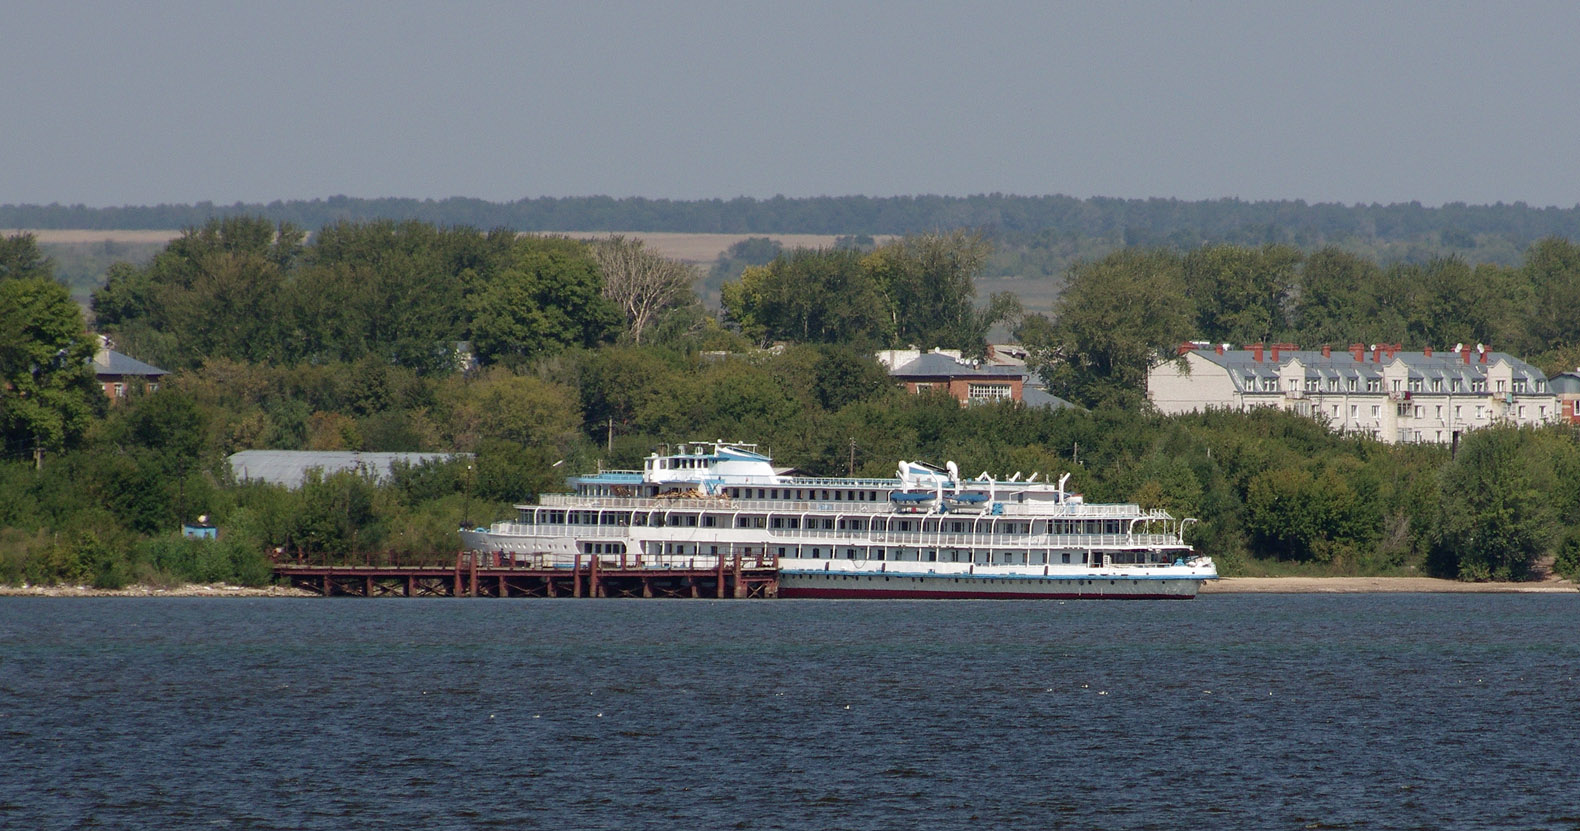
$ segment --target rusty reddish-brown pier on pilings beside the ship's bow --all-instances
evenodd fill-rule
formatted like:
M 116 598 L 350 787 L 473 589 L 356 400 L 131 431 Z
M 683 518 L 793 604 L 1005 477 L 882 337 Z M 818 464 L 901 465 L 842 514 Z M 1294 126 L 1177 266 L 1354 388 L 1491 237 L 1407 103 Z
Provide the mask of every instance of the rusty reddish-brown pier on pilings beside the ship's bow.
M 777 564 L 739 556 L 651 566 L 577 556 L 570 566 L 520 566 L 457 555 L 453 566 L 275 566 L 275 577 L 324 597 L 777 597 Z

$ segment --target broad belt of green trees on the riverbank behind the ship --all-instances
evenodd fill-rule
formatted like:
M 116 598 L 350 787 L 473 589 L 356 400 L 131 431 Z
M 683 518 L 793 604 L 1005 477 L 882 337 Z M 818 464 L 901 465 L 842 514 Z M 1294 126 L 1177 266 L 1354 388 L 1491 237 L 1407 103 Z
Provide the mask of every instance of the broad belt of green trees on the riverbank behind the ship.
M 1183 337 L 1296 337 L 1322 319 L 1316 308 L 1354 306 L 1332 324 L 1338 341 L 1409 341 L 1409 321 L 1431 310 L 1446 318 L 1435 337 L 1462 325 L 1457 340 L 1485 341 L 1479 303 L 1433 300 L 1469 284 L 1450 280 L 1463 265 L 1417 280 L 1277 246 L 1087 261 L 1066 275 L 1054 318 L 1019 321 L 1044 371 L 1070 381 L 1052 392 L 1092 404 L 1049 412 L 910 397 L 871 357 L 912 338 L 980 343 L 972 235 L 781 251 L 724 284 L 722 319 L 670 281 L 641 324 L 618 300 L 635 291 L 619 288 L 635 273 L 619 245 L 425 223 L 346 223 L 308 242 L 256 218 L 209 223 L 145 265 L 118 267 L 95 295 L 100 330 L 174 370 L 156 392 L 109 406 L 85 367 L 81 311 L 30 240 L 6 240 L 0 581 L 259 581 L 270 558 L 444 561 L 463 521 L 502 517 L 570 471 L 635 468 L 700 436 L 757 441 L 814 474 L 888 476 L 899 458 L 1073 471 L 1092 501 L 1201 518 L 1191 540 L 1229 573 L 1299 564 L 1520 578 L 1547 561 L 1580 566 L 1580 537 L 1561 521 L 1580 509 L 1580 446 L 1566 430 L 1477 431 L 1455 457 L 1281 412 L 1160 417 L 1125 374 Z M 1566 245 L 1542 243 L 1495 286 L 1574 280 Z M 1349 294 L 1311 305 L 1319 273 Z M 1446 288 L 1417 305 L 1387 294 L 1422 281 Z M 1382 291 L 1373 283 L 1394 300 L 1367 305 Z M 841 294 L 852 288 L 863 297 Z M 863 318 L 814 327 L 809 303 Z M 1073 332 L 1087 340 L 1063 340 Z M 766 340 L 795 343 L 760 349 Z M 1063 365 L 1085 381 L 1060 376 Z M 469 455 L 398 469 L 390 483 L 337 474 L 292 491 L 234 482 L 224 457 L 242 449 Z M 179 539 L 198 515 L 218 523 L 218 542 Z

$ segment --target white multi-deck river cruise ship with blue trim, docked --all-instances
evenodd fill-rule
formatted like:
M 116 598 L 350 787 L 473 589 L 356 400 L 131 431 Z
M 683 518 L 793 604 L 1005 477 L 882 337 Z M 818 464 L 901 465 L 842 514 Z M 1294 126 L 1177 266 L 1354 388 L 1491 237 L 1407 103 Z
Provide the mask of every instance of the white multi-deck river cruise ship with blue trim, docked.
M 529 567 L 773 566 L 781 597 L 1188 599 L 1218 577 L 1185 543 L 1194 520 L 1087 504 L 1068 479 L 916 461 L 894 479 L 806 477 L 754 444 L 697 442 L 572 477 L 574 493 L 461 542 Z

